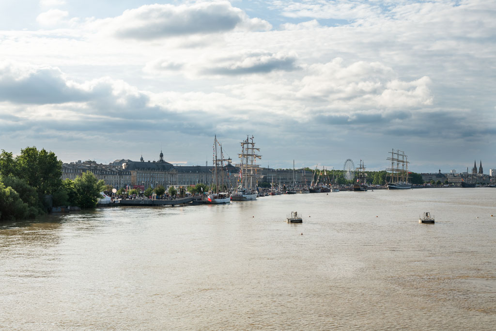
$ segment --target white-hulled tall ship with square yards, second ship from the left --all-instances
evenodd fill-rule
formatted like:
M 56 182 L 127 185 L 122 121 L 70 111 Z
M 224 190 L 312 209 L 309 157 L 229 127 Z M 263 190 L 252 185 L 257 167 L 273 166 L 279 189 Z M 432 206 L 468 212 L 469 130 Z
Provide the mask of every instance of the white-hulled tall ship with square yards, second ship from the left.
M 260 148 L 255 148 L 253 136 L 251 138 L 247 136 L 247 139 L 241 142 L 241 154 L 238 154 L 241 160 L 238 187 L 231 195 L 231 200 L 247 201 L 256 199 L 257 180 L 260 177 L 256 173 L 258 168 L 256 159 L 262 158 L 261 155 L 257 154 L 259 151 Z

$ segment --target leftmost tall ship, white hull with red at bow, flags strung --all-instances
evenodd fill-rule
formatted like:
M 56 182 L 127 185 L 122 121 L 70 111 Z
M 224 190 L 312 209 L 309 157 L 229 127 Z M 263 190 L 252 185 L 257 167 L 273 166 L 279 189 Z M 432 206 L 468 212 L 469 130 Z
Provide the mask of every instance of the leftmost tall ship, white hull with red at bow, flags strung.
M 220 149 L 220 158 L 217 157 L 217 147 Z M 231 198 L 229 197 L 229 193 L 227 191 L 227 187 L 224 184 L 224 161 L 230 162 L 231 159 L 224 159 L 224 154 L 222 153 L 222 145 L 219 140 L 217 140 L 217 136 L 214 138 L 214 158 L 213 158 L 213 169 L 212 169 L 212 185 L 210 186 L 210 190 L 206 197 L 204 197 L 204 201 L 206 203 L 218 204 L 218 203 L 229 203 L 231 202 Z M 222 192 L 219 192 L 222 191 Z

